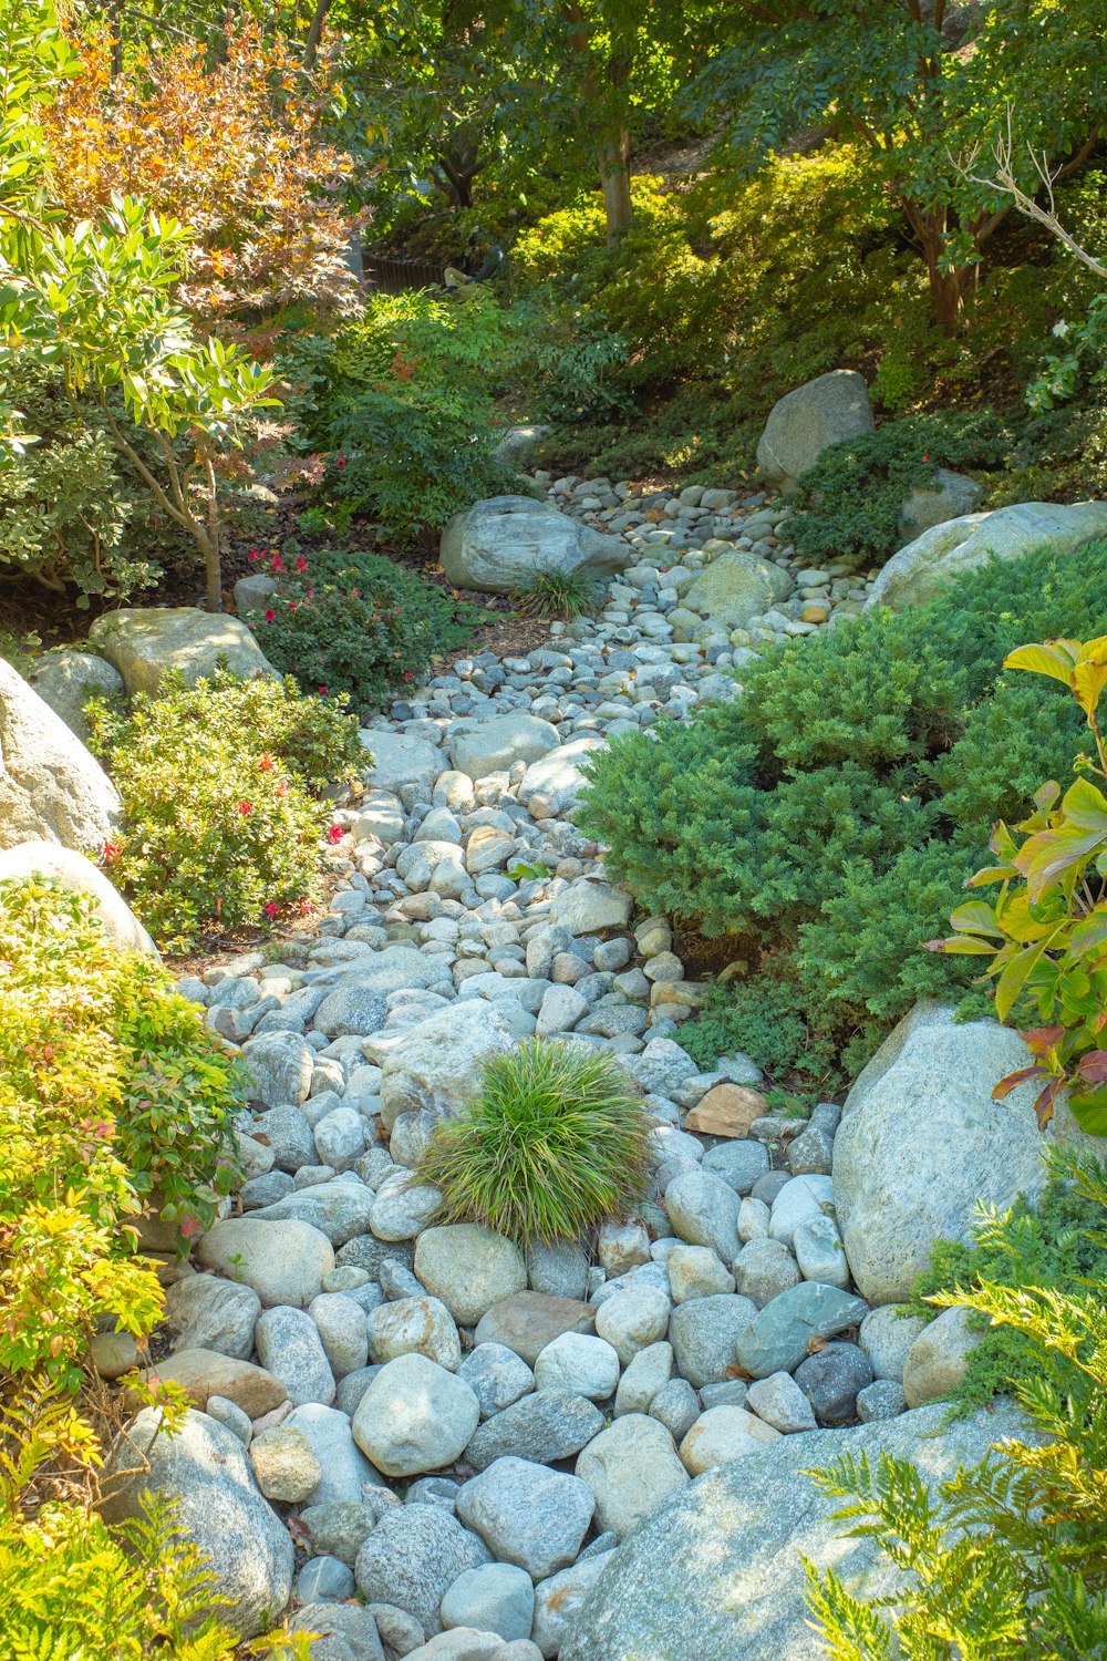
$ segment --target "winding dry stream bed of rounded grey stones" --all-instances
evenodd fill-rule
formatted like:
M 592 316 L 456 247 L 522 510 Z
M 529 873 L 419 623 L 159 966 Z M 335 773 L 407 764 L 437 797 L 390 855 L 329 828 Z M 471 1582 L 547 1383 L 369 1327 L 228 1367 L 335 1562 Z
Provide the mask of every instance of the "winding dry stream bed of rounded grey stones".
M 558 480 L 551 500 L 639 555 L 602 611 L 528 658 L 458 661 L 373 721 L 319 935 L 181 983 L 259 1100 L 236 1214 L 166 1269 L 158 1372 L 202 1412 L 154 1477 L 241 1629 L 290 1605 L 330 1633 L 315 1661 L 553 1658 L 619 1540 L 695 1475 L 905 1407 L 918 1325 L 850 1286 L 838 1108 L 783 1121 L 747 1056 L 695 1066 L 679 1033 L 700 988 L 667 922 L 632 917 L 571 819 L 607 736 L 734 698 L 724 671 L 858 610 L 865 585 L 798 573 L 760 495 Z M 782 581 L 727 630 L 692 601 L 734 545 Z M 432 1106 L 531 1033 L 621 1056 L 651 1115 L 651 1199 L 597 1242 L 523 1256 L 436 1226 L 410 1171 Z M 219 1507 L 196 1498 L 212 1458 Z

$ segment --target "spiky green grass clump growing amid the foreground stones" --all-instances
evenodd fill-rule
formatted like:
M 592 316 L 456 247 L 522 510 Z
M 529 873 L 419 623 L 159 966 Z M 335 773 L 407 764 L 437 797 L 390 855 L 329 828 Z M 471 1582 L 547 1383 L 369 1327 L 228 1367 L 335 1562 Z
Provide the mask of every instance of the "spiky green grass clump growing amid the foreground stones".
M 480 1093 L 443 1120 L 420 1164 L 453 1221 L 521 1244 L 574 1241 L 642 1198 L 642 1100 L 591 1048 L 533 1038 L 495 1055 Z

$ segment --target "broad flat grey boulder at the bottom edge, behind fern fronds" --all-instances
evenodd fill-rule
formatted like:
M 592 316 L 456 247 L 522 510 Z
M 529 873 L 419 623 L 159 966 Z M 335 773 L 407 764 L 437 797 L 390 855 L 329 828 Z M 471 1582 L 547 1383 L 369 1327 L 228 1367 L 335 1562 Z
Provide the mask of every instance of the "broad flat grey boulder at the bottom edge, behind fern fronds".
M 569 1623 L 561 1661 L 810 1661 L 802 1558 L 833 1568 L 863 1596 L 891 1593 L 898 1573 L 871 1541 L 843 1540 L 823 1498 L 800 1472 L 845 1452 L 911 1458 L 931 1482 L 1019 1435 L 1016 1412 L 946 1423 L 944 1407 L 853 1430 L 782 1437 L 699 1477 L 654 1512 L 617 1551 Z

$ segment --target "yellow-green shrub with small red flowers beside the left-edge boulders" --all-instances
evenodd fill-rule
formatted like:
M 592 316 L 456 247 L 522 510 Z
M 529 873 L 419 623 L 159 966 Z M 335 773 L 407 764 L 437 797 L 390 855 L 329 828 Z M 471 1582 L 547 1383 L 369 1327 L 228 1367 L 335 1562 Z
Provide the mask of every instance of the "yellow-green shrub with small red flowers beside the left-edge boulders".
M 363 761 L 342 699 L 216 674 L 171 681 L 129 714 L 95 701 L 88 719 L 124 807 L 105 862 L 161 943 L 184 948 L 212 922 L 272 922 L 314 892 L 325 829 L 314 792 Z

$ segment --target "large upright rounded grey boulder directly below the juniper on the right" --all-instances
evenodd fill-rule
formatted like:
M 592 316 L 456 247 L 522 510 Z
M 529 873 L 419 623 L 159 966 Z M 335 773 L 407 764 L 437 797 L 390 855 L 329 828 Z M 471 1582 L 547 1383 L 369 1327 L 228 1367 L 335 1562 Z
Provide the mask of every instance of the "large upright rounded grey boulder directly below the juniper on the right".
M 835 1136 L 838 1227 L 858 1291 L 870 1304 L 901 1304 L 938 1239 L 966 1239 L 976 1203 L 1006 1208 L 1046 1181 L 1042 1146 L 1094 1148 L 1066 1103 L 1046 1138 L 1034 1086 L 1006 1101 L 991 1091 L 1031 1061 L 1017 1031 L 997 1022 L 954 1022 L 934 1002 L 916 1005 L 853 1085 Z

